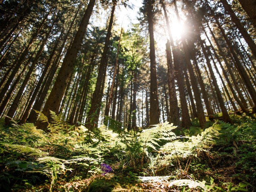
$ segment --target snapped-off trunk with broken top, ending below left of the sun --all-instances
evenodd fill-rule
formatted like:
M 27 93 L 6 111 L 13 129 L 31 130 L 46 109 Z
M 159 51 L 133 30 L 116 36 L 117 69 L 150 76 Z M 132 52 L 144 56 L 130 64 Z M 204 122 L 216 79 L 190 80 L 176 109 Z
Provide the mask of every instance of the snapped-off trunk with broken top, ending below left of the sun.
M 172 64 L 172 53 L 170 41 L 166 43 L 166 57 L 167 57 L 167 76 L 169 88 L 169 104 L 170 104 L 170 120 L 175 126 L 180 126 L 180 112 L 178 108 L 178 100 L 176 95 L 175 80 L 174 80 L 174 67 Z

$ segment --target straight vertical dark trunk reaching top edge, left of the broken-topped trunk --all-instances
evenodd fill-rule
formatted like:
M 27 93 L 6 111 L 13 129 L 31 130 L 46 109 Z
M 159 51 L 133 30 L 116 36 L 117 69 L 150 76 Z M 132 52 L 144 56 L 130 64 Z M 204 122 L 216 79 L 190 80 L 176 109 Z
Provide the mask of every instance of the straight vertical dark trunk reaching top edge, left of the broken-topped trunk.
M 153 22 L 153 0 L 146 2 L 147 22 L 149 25 L 150 38 L 150 125 L 159 123 L 160 109 L 157 94 L 156 62 L 155 62 L 155 42 L 154 42 L 154 22 Z

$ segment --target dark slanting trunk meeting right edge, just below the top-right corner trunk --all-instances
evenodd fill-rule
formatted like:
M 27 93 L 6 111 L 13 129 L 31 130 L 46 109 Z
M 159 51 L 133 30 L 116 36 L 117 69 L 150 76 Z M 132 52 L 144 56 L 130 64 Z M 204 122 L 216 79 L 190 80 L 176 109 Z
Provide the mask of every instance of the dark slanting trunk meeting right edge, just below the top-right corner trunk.
M 255 42 L 252 40 L 250 34 L 248 34 L 247 30 L 244 28 L 244 26 L 242 25 L 242 23 L 240 22 L 239 18 L 237 17 L 237 15 L 235 15 L 234 11 L 232 10 L 231 6 L 228 4 L 228 1 L 226 0 L 221 0 L 225 10 L 228 12 L 228 14 L 230 15 L 232 21 L 235 23 L 235 25 L 237 26 L 239 32 L 242 34 L 243 38 L 245 39 L 245 41 L 247 42 L 248 46 L 250 47 L 252 54 L 254 55 L 254 58 L 256 58 L 256 44 Z M 255 9 L 255 7 L 254 7 Z M 255 11 L 254 11 L 255 12 Z

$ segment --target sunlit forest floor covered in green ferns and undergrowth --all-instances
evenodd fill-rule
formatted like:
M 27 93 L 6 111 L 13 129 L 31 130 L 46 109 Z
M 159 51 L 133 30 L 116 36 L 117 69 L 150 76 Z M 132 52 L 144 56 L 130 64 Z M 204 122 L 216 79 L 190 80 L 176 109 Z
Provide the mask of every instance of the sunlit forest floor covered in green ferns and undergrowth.
M 110 118 L 88 130 L 52 117 L 48 133 L 1 120 L 1 191 L 255 191 L 255 115 L 137 132 Z

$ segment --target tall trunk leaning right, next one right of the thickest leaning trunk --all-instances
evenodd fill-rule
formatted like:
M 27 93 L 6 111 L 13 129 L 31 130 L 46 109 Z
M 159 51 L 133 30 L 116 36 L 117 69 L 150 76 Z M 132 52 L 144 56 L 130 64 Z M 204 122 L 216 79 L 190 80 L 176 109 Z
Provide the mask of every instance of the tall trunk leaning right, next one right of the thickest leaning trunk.
M 98 114 L 100 114 L 100 105 L 101 105 L 101 100 L 102 100 L 102 86 L 105 84 L 105 69 L 107 68 L 107 50 L 109 48 L 109 41 L 110 41 L 110 35 L 111 35 L 111 28 L 113 24 L 113 19 L 114 19 L 114 12 L 115 12 L 115 6 L 117 3 L 117 0 L 112 1 L 112 10 L 111 10 L 111 15 L 110 15 L 110 20 L 109 20 L 109 27 L 107 29 L 107 35 L 105 39 L 105 45 L 103 48 L 103 53 L 100 61 L 100 66 L 99 66 L 99 71 L 98 71 L 98 77 L 95 85 L 95 90 L 93 92 L 92 96 L 92 103 L 91 103 L 91 108 L 88 112 L 88 118 L 87 118 L 87 127 L 88 128 L 93 128 L 97 127 L 97 122 L 98 122 Z

